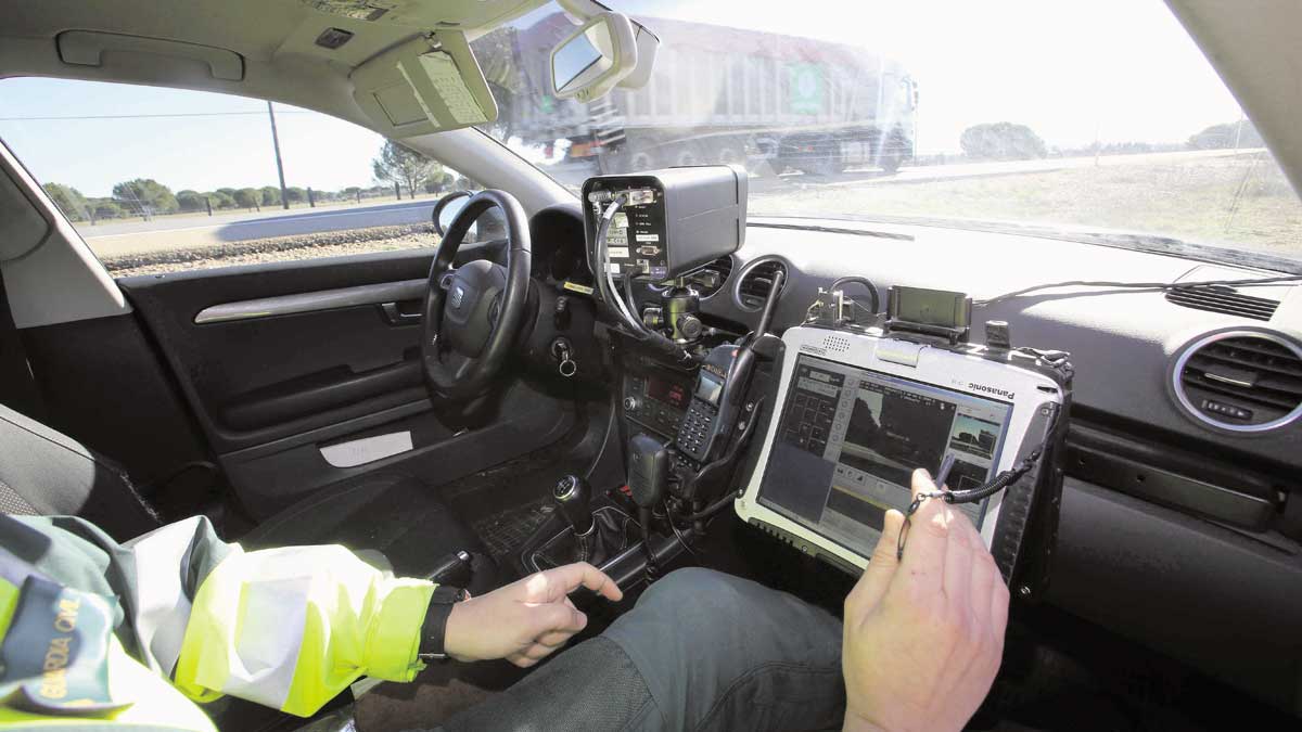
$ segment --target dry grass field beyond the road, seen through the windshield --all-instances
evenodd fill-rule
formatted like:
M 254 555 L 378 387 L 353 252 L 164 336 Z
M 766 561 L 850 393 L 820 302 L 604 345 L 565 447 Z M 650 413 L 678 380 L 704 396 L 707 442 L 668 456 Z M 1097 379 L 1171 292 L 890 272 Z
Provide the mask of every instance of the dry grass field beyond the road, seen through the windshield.
M 751 212 L 945 216 L 1079 224 L 1302 259 L 1302 202 L 1269 159 L 1074 168 L 907 185 L 796 185 Z

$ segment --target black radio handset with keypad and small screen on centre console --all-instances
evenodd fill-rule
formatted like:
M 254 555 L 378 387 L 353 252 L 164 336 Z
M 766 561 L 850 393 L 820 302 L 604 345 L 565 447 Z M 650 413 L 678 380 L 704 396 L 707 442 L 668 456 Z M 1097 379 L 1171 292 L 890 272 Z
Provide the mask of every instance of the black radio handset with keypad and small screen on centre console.
M 737 423 L 741 401 L 750 387 L 750 374 L 755 367 L 754 345 L 768 332 L 785 277 L 783 270 L 773 272 L 755 333 L 741 345 L 716 345 L 700 363 L 697 386 L 691 391 L 691 405 L 687 406 L 676 440 L 678 449 L 697 462 L 710 462 L 716 448 L 728 443 L 730 429 Z

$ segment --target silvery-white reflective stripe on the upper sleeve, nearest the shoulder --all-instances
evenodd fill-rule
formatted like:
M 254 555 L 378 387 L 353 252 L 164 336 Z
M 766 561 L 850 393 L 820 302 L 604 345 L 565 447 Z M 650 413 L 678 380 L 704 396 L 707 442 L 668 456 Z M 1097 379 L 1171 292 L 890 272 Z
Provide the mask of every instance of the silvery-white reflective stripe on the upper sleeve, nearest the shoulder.
M 135 556 L 135 585 L 132 587 L 137 613 L 135 636 L 146 650 L 146 662 L 155 672 L 172 676 L 181 655 L 185 625 L 190 619 L 190 598 L 182 578 L 189 567 L 190 547 L 201 517 L 168 524 L 132 542 Z

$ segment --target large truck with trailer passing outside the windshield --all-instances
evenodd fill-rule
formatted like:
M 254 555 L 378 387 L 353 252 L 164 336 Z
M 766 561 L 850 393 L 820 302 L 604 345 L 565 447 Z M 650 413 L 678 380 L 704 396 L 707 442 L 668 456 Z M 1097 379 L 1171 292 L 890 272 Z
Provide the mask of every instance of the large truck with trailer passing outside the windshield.
M 638 18 L 661 46 L 650 82 L 589 102 L 549 94 L 562 13 L 477 40 L 499 129 L 526 146 L 568 145 L 561 163 L 602 173 L 733 163 L 753 173 L 896 172 L 915 151 L 918 89 L 896 61 L 854 46 L 667 18 Z M 508 68 L 509 66 L 509 68 Z M 504 99 L 505 95 L 505 99 Z M 501 103 L 504 102 L 504 103 Z

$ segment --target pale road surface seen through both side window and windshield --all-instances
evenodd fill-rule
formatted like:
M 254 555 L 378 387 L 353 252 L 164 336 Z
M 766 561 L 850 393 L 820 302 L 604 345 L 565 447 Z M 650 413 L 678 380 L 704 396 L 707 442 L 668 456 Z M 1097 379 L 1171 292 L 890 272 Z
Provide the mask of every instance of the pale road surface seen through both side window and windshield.
M 762 202 L 766 198 L 780 198 L 784 191 L 807 190 L 810 188 L 923 184 L 960 178 L 1044 173 L 1069 168 L 1087 168 L 1095 164 L 1100 167 L 1174 164 L 1206 158 L 1251 155 L 1256 152 L 1259 150 L 1207 150 L 1111 155 L 1101 156 L 1098 160 L 1092 156 L 1085 156 L 919 165 L 901 168 L 896 175 L 875 169 L 850 169 L 836 176 L 785 173 L 783 176 L 753 177 L 750 193 L 753 202 Z M 572 169 L 565 177 L 573 176 L 582 176 L 582 172 Z M 577 185 L 581 181 L 565 182 L 574 182 Z M 366 206 L 335 206 L 288 212 L 283 210 L 251 214 L 229 212 L 211 218 L 204 215 L 159 216 L 150 221 L 100 223 L 94 227 L 78 224 L 77 229 L 96 254 L 113 257 L 267 237 L 426 223 L 434 211 L 435 201 L 434 197 L 430 197 L 418 201 Z M 768 208 L 772 208 L 772 206 L 768 206 Z

